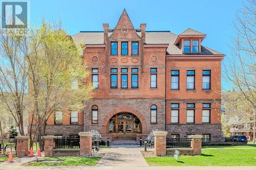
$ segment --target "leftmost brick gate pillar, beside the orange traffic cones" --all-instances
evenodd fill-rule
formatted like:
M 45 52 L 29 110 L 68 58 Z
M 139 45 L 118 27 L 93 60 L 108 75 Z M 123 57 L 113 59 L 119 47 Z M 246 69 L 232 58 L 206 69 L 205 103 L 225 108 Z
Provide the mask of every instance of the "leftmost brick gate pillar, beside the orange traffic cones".
M 25 157 L 29 155 L 29 136 L 17 136 L 17 157 Z

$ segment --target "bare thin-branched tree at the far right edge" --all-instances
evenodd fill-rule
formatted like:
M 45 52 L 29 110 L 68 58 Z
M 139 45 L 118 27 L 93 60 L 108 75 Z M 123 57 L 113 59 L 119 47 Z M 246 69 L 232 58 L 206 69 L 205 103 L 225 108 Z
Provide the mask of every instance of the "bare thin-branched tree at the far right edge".
M 247 0 L 244 8 L 237 11 L 236 20 L 233 26 L 237 31 L 236 37 L 231 39 L 231 55 L 227 57 L 225 65 L 225 78 L 231 83 L 232 87 L 239 93 L 239 98 L 248 105 L 250 112 L 253 113 L 253 142 L 255 141 L 255 17 L 256 1 Z

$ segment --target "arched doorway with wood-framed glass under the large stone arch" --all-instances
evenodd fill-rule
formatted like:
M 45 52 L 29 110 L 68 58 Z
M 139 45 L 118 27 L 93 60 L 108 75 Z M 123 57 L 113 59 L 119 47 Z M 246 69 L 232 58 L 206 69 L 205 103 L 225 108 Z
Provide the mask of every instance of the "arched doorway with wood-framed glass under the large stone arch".
M 139 118 L 132 113 L 117 113 L 108 122 L 107 133 L 114 139 L 136 139 L 142 133 Z

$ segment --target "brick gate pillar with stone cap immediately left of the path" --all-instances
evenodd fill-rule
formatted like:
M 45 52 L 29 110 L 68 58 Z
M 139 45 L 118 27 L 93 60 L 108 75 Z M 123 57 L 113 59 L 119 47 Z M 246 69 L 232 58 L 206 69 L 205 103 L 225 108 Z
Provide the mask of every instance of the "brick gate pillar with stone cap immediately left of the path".
M 79 132 L 80 136 L 80 155 L 92 155 L 92 133 Z

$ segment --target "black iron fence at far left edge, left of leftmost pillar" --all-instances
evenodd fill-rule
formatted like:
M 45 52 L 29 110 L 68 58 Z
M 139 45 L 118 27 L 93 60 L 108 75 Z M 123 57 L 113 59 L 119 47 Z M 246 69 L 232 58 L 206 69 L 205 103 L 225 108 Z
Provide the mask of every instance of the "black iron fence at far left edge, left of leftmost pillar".
M 8 156 L 10 152 L 12 152 L 12 156 L 16 156 L 16 141 L 16 139 L 0 140 L 0 156 Z

